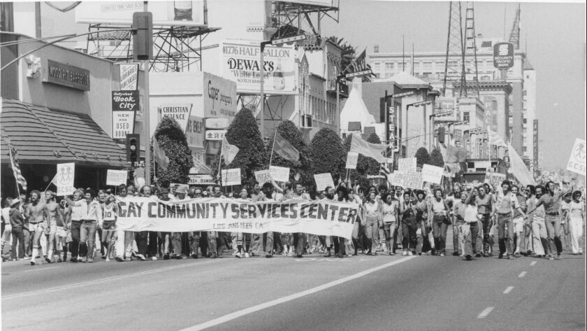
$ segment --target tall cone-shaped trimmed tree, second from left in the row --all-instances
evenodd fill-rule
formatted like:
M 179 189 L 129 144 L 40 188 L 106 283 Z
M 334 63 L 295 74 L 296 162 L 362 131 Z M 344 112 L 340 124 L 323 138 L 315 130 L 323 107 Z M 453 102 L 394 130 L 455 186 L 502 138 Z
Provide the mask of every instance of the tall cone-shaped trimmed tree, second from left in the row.
M 222 159 L 222 169 L 240 168 L 240 181 L 242 184 L 251 183 L 255 179 L 255 171 L 267 169 L 269 157 L 265 144 L 259 132 L 259 126 L 253 117 L 252 111 L 242 109 L 232 121 L 229 129 L 226 130 L 226 140 L 238 147 L 238 154 L 230 164 Z M 212 177 L 218 179 L 218 160 L 221 146 L 218 146 L 214 162 L 212 162 Z

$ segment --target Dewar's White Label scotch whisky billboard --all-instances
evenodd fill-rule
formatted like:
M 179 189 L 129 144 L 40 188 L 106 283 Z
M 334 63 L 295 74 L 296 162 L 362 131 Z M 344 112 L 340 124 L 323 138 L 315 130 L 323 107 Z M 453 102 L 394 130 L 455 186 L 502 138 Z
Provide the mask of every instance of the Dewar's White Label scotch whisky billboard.
M 220 72 L 236 82 L 242 94 L 261 91 L 261 45 L 259 41 L 224 41 L 220 45 Z M 263 52 L 263 91 L 266 94 L 295 94 L 295 50 L 293 45 L 266 45 Z

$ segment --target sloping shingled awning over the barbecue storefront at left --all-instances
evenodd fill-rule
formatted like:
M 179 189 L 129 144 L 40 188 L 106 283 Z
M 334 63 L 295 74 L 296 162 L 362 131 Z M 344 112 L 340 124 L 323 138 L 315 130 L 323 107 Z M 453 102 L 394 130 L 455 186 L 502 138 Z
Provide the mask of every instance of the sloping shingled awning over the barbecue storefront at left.
M 128 167 L 124 150 L 85 114 L 3 100 L 0 131 L 2 163 L 10 162 L 10 143 L 21 164 Z

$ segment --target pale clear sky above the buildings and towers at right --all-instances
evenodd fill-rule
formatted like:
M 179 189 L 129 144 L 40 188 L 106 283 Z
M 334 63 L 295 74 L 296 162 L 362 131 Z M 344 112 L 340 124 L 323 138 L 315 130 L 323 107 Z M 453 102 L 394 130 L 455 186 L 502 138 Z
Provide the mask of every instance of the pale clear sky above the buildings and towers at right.
M 464 3 L 463 3 L 464 5 Z M 517 2 L 474 3 L 475 32 L 506 38 Z M 521 5 L 521 43 L 536 70 L 536 115 L 544 167 L 566 167 L 576 138 L 586 136 L 586 4 Z M 464 13 L 464 10 L 463 10 Z M 446 51 L 448 1 L 340 0 L 338 24 L 321 21 L 324 36 L 345 38 L 359 52 L 379 45 L 379 52 Z M 463 14 L 464 15 L 464 14 Z M 505 17 L 505 24 L 504 24 Z M 464 19 L 464 18 L 463 18 Z

